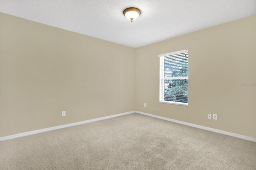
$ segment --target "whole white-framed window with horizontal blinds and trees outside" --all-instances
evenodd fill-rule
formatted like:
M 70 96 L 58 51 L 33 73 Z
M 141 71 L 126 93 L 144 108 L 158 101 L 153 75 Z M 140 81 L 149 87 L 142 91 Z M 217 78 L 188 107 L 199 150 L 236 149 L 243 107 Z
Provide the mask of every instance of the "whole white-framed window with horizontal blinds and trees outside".
M 188 50 L 158 55 L 159 102 L 188 106 Z

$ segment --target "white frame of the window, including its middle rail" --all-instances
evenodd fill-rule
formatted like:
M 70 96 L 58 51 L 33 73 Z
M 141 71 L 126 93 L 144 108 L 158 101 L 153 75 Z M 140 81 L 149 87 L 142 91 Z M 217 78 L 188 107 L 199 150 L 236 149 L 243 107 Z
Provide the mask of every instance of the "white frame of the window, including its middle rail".
M 164 80 L 177 80 L 177 79 L 188 79 L 188 76 L 186 77 L 169 77 L 165 78 L 164 77 L 164 58 L 169 57 L 170 55 L 176 55 L 180 53 L 187 53 L 188 50 L 181 50 L 181 51 L 176 51 L 172 53 L 166 53 L 166 54 L 161 54 L 158 55 L 160 58 L 160 83 L 159 83 L 159 102 L 164 103 L 164 104 L 175 104 L 175 105 L 181 105 L 181 106 L 188 106 L 188 103 L 182 103 L 182 102 L 172 102 L 172 101 L 166 101 L 164 100 Z

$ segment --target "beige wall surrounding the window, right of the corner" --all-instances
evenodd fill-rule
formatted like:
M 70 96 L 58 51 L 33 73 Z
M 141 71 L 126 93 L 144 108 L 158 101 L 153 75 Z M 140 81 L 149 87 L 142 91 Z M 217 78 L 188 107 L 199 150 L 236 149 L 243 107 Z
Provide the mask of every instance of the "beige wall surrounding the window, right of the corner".
M 159 103 L 159 54 L 188 49 L 188 107 Z M 136 49 L 136 110 L 256 137 L 256 15 Z M 147 107 L 144 107 L 147 103 Z M 208 113 L 218 120 L 207 119 Z

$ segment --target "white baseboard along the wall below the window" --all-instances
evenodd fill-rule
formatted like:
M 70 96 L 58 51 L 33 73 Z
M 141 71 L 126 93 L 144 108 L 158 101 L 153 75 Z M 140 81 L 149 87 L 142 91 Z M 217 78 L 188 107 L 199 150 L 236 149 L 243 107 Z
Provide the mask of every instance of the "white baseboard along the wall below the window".
M 253 138 L 253 137 L 248 137 L 248 136 L 244 136 L 244 135 L 239 135 L 239 134 L 236 134 L 236 133 L 231 133 L 231 132 L 227 132 L 227 131 L 222 131 L 222 130 L 214 129 L 214 128 L 211 128 L 211 127 L 196 125 L 196 124 L 193 124 L 193 123 L 188 123 L 188 122 L 184 122 L 184 121 L 179 121 L 179 120 L 175 120 L 175 119 L 170 119 L 170 118 L 166 118 L 166 117 L 162 117 L 162 116 L 158 116 L 158 115 L 152 115 L 152 114 L 144 113 L 144 112 L 141 112 L 141 111 L 135 111 L 135 113 L 139 113 L 139 114 L 142 114 L 142 115 L 147 115 L 147 116 L 155 117 L 155 118 L 158 118 L 158 119 L 163 119 L 163 120 L 172 121 L 172 122 L 175 122 L 175 123 L 180 123 L 180 124 L 182 124 L 182 125 L 187 125 L 187 126 L 191 126 L 191 127 L 196 127 L 196 128 L 204 129 L 204 130 L 207 130 L 207 131 L 212 131 L 212 132 L 216 132 L 216 133 L 221 133 L 221 134 L 224 134 L 224 135 L 228 135 L 228 136 L 237 137 L 237 138 L 245 139 L 245 140 L 248 140 L 248 141 L 256 142 L 256 138 Z

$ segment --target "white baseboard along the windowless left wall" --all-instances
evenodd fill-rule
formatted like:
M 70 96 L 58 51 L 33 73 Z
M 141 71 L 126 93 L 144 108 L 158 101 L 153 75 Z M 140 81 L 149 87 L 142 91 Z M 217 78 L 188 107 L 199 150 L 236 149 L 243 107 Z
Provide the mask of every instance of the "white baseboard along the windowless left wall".
M 36 133 L 42 133 L 42 132 L 52 131 L 52 130 L 56 130 L 56 129 L 62 129 L 62 128 L 65 128 L 65 127 L 81 125 L 81 124 L 84 124 L 84 123 L 90 123 L 90 122 L 100 121 L 100 120 L 104 120 L 104 119 L 110 119 L 110 118 L 113 118 L 113 117 L 118 117 L 118 116 L 122 116 L 122 115 L 128 115 L 128 114 L 131 114 L 131 113 L 135 113 L 135 111 L 128 111 L 128 112 L 119 113 L 119 114 L 116 114 L 116 115 L 99 117 L 99 118 L 96 118 L 96 119 L 90 119 L 90 120 L 85 120 L 85 121 L 78 121 L 78 122 L 75 122 L 75 123 L 69 123 L 69 124 L 65 124 L 65 125 L 48 127 L 48 128 L 45 128 L 45 129 L 38 129 L 38 130 L 35 130 L 35 131 L 18 133 L 18 134 L 15 134 L 15 135 L 0 137 L 0 141 L 6 141 L 6 140 L 9 140 L 9 139 L 14 139 L 14 138 L 18 138 L 18 137 L 24 137 L 24 136 L 28 136 L 28 135 L 34 135 Z

